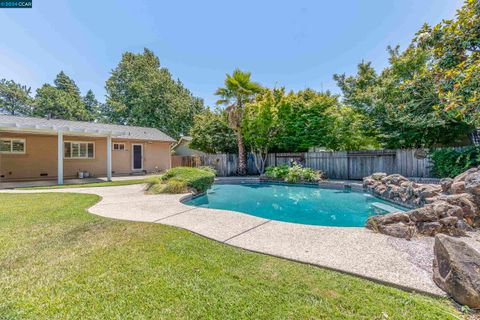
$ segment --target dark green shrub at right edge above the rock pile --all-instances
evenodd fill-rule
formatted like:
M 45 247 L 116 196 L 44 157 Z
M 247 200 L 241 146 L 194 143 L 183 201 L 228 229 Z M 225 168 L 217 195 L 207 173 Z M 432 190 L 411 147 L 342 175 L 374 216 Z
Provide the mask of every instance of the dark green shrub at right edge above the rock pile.
M 480 165 L 480 148 L 476 146 L 437 149 L 430 156 L 433 163 L 432 172 L 439 178 L 453 178 L 467 169 Z

